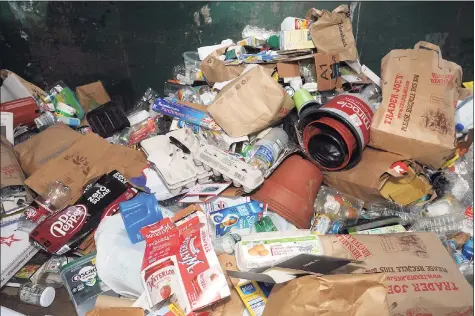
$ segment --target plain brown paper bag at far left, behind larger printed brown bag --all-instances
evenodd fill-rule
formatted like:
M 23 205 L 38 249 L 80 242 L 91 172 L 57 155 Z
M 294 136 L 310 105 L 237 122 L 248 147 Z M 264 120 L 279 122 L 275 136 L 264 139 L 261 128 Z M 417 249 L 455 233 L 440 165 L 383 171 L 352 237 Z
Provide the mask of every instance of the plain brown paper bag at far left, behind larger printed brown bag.
M 20 165 L 27 176 L 71 147 L 83 135 L 63 123 L 48 127 L 41 133 L 14 147 Z

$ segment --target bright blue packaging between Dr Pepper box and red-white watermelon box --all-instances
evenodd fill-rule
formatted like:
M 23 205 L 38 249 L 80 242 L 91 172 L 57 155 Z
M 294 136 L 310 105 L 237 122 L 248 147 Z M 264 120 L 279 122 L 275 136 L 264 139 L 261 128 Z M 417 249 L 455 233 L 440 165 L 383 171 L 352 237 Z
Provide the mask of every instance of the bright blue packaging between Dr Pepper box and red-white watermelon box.
M 139 193 L 127 202 L 119 203 L 120 214 L 130 241 L 136 244 L 143 239 L 140 229 L 163 219 L 157 198 L 152 194 Z

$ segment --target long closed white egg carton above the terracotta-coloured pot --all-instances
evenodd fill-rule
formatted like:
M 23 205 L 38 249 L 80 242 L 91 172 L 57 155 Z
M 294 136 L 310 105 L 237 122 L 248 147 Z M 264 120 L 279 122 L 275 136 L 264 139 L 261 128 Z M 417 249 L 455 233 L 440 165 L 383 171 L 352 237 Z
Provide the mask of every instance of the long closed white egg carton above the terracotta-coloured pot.
M 215 176 L 222 175 L 225 181 L 232 181 L 236 187 L 242 186 L 246 193 L 264 182 L 260 170 L 212 145 L 201 144 L 193 156 L 196 164 L 212 170 Z

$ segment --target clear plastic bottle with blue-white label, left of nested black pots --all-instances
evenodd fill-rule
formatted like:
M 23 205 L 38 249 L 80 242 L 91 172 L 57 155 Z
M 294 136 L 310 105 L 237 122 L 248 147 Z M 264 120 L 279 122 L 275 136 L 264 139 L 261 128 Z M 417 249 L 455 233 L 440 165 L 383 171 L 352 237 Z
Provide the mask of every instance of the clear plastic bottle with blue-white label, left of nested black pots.
M 272 128 L 266 136 L 254 145 L 255 154 L 249 160 L 249 164 L 265 173 L 277 160 L 282 150 L 287 146 L 288 141 L 289 136 L 283 129 Z

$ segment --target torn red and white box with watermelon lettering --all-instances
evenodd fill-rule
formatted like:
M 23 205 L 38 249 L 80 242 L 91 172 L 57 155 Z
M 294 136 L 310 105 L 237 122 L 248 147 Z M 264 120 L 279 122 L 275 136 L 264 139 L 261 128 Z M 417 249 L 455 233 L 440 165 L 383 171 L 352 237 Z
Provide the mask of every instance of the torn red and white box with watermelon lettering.
M 211 244 L 206 215 L 165 218 L 141 229 L 146 240 L 142 281 L 150 306 L 174 295 L 185 315 L 231 295 Z

